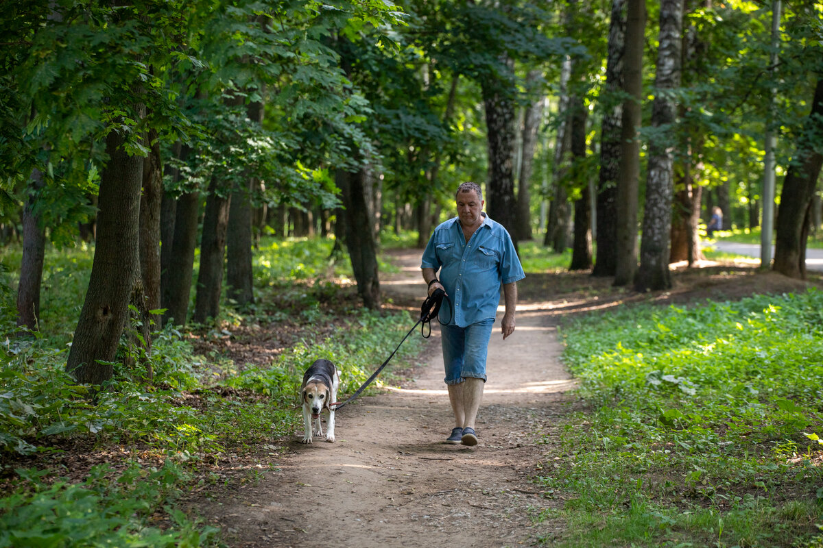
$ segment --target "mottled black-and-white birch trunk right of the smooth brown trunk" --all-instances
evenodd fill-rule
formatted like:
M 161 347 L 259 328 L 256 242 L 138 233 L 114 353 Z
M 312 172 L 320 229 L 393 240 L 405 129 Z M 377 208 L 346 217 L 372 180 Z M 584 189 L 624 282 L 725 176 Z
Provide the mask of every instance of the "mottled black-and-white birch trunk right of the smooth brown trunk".
M 677 104 L 671 92 L 680 87 L 682 28 L 683 0 L 661 0 L 657 91 L 652 105 L 652 126 L 658 137 L 649 143 L 640 268 L 635 276 L 635 290 L 640 292 L 672 287 L 668 265 L 675 143 L 671 135 Z

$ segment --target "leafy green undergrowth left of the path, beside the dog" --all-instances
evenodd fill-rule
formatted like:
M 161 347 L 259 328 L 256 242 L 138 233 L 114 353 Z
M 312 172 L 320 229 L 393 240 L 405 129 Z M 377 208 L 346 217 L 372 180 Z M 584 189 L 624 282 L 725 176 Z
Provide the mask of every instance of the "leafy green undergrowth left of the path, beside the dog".
M 194 472 L 223 454 L 275 447 L 295 435 L 300 381 L 311 361 L 325 357 L 340 365 L 341 394 L 350 393 L 413 323 L 406 313 L 363 309 L 347 281 L 346 255 L 331 251 L 332 242 L 318 238 L 264 238 L 253 266 L 258 304 L 243 311 L 226 306 L 209 325 L 156 330 L 149 356 L 154 380 L 135 382 L 140 371 L 118 364 L 102 386 L 77 385 L 64 371 L 91 251 L 49 251 L 47 265 L 55 266 L 44 271 L 40 332 L 0 344 L 6 364 L 0 371 L 0 548 L 219 544 L 216 529 L 172 505 L 196 486 Z M 4 264 L 10 255 L 7 250 Z M 11 271 L 0 279 L 5 333 L 14 330 L 15 279 Z M 297 343 L 256 366 L 193 349 L 195 340 L 231 337 L 253 324 L 282 324 L 298 334 Z M 396 363 L 417 348 L 409 338 Z M 121 352 L 128 352 L 125 344 Z M 100 464 L 85 471 L 49 467 L 53 461 L 41 458 L 81 446 L 100 455 L 123 448 L 128 457 L 92 457 Z

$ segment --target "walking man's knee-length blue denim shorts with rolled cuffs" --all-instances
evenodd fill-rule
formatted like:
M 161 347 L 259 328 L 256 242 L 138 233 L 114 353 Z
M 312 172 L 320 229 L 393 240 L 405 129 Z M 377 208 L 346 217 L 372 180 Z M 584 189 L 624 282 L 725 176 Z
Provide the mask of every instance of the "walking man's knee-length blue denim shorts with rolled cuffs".
M 468 327 L 440 325 L 447 385 L 458 385 L 465 377 L 486 380 L 486 354 L 494 318 Z

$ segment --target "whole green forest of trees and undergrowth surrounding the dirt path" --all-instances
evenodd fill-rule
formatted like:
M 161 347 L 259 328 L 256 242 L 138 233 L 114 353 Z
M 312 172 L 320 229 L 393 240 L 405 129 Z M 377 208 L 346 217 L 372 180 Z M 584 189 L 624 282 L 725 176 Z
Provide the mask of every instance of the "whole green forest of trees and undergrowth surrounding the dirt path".
M 761 246 L 747 276 L 797 289 L 561 322 L 588 402 L 574 412 L 589 413 L 567 419 L 588 427 L 558 445 L 574 467 L 536 481 L 578 498 L 532 526 L 563 518 L 551 542 L 566 546 L 593 524 L 586 546 L 821 546 L 823 329 L 806 258 L 823 230 L 823 4 L 6 0 L 0 28 L 0 546 L 229 542 L 169 501 L 240 481 L 203 475 L 220 455 L 282 444 L 300 364 L 345 356 L 344 383 L 369 376 L 414 306 L 384 284 L 391 251 L 425 246 L 465 181 L 530 279 L 668 296 L 739 236 Z M 230 341 L 259 330 L 277 351 L 249 365 Z M 587 330 L 599 337 L 579 342 Z M 737 343 L 728 371 L 684 357 Z M 757 371 L 732 357 L 774 348 L 785 357 Z M 626 365 L 644 352 L 653 364 Z M 742 399 L 721 409 L 727 380 Z M 633 397 L 655 403 L 621 407 Z M 688 456 L 655 486 L 671 435 Z M 597 453 L 574 452 L 575 436 Z M 621 467 L 653 479 L 622 477 L 607 500 L 580 476 Z M 712 523 L 673 517 L 681 496 Z M 612 521 L 623 511 L 653 524 L 630 536 Z

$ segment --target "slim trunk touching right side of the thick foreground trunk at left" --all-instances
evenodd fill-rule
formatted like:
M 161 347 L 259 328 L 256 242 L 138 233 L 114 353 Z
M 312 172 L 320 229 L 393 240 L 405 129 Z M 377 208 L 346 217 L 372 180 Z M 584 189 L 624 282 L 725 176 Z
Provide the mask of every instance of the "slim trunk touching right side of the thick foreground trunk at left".
M 149 131 L 149 154 L 143 159 L 142 195 L 140 196 L 140 273 L 143 306 L 160 308 L 160 204 L 163 200 L 163 177 L 160 167 L 160 142 L 157 132 Z M 160 323 L 149 315 L 148 320 Z

